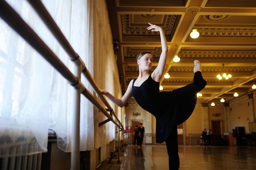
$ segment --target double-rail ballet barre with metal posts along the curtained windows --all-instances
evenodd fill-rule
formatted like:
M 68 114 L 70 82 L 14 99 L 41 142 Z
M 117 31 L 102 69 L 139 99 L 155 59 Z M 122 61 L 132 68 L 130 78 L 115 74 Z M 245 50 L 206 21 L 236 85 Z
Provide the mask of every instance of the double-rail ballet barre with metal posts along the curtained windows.
M 123 131 L 124 127 L 113 111 L 112 107 L 102 95 L 99 87 L 94 81 L 92 75 L 85 67 L 85 64 L 81 60 L 78 54 L 74 51 L 70 43 L 67 41 L 61 30 L 58 28 L 53 18 L 48 13 L 47 9 L 44 7 L 40 0 L 27 0 L 31 6 L 36 10 L 40 18 L 43 20 L 48 29 L 52 32 L 56 40 L 61 44 L 63 49 L 69 55 L 70 60 L 75 62 L 76 69 L 74 74 L 61 62 L 61 60 L 54 54 L 54 52 L 43 42 L 42 39 L 34 32 L 27 23 L 22 20 L 22 18 L 14 11 L 7 2 L 0 0 L 0 17 L 7 22 L 7 24 L 12 27 L 22 38 L 24 38 L 31 47 L 33 47 L 39 54 L 47 60 L 69 83 L 76 89 L 76 93 L 73 96 L 73 101 L 75 103 L 74 113 L 72 114 L 72 146 L 71 146 L 71 169 L 80 169 L 80 136 L 79 136 L 79 126 L 80 126 L 80 96 L 83 94 L 88 100 L 95 106 L 99 111 L 101 111 L 108 119 L 99 123 L 99 126 L 112 121 L 118 128 L 118 147 L 120 147 L 120 135 L 119 132 Z M 99 96 L 101 101 L 106 105 L 107 109 L 102 107 L 102 105 L 94 98 L 94 96 L 84 87 L 81 83 L 81 73 L 88 80 L 94 92 Z M 110 113 L 108 113 L 110 112 Z M 113 119 L 115 117 L 115 120 Z M 119 152 L 118 152 L 119 160 Z

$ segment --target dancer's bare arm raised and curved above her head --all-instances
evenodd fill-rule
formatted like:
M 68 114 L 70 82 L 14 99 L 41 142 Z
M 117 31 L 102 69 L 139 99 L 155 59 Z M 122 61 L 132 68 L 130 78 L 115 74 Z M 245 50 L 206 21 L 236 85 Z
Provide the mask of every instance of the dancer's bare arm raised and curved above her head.
M 168 53 L 168 46 L 167 46 L 167 41 L 166 37 L 164 35 L 164 30 L 157 26 L 148 23 L 150 26 L 147 28 L 148 30 L 151 31 L 159 31 L 160 33 L 160 39 L 161 39 L 161 45 L 162 45 L 162 53 L 159 58 L 159 62 L 153 73 L 151 74 L 151 77 L 154 81 L 159 82 L 164 74 L 164 67 L 166 65 L 166 59 L 167 59 L 167 53 Z

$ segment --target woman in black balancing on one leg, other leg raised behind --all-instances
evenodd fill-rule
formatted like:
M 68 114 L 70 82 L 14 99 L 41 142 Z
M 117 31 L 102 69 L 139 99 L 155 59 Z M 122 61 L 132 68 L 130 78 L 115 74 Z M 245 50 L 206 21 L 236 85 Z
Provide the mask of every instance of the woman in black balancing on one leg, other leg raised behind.
M 149 70 L 153 65 L 153 56 L 150 52 L 141 52 L 136 58 L 139 76 L 130 81 L 124 96 L 119 99 L 102 89 L 101 93 L 119 107 L 123 107 L 133 95 L 144 110 L 153 114 L 156 118 L 156 142 L 166 142 L 169 169 L 178 170 L 180 160 L 177 144 L 177 125 L 180 125 L 191 116 L 196 104 L 196 94 L 207 83 L 202 78 L 201 63 L 198 60 L 194 60 L 193 83 L 171 92 L 159 92 L 159 82 L 164 75 L 168 45 L 163 29 L 157 25 L 148 24 L 150 25 L 147 27 L 148 30 L 157 31 L 160 35 L 162 52 L 157 67 L 149 74 Z

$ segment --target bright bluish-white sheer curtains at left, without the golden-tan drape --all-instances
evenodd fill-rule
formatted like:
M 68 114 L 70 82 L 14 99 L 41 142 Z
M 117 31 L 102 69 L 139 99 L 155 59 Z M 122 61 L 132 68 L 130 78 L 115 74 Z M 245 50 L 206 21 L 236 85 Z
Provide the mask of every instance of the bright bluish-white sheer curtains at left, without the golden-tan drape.
M 13 9 L 70 69 L 73 65 L 36 12 L 25 0 L 8 0 Z M 43 0 L 51 16 L 85 65 L 88 60 L 88 4 L 86 0 Z M 0 18 L 0 153 L 1 157 L 47 151 L 48 129 L 58 136 L 59 147 L 70 151 L 70 104 L 67 81 Z M 86 86 L 86 83 L 84 83 Z M 84 108 L 92 106 L 82 99 Z M 93 132 L 90 109 L 81 120 Z M 86 119 L 86 121 L 84 121 Z M 92 119 L 92 120 L 91 120 Z M 89 124 L 89 125 L 88 125 Z M 88 126 L 88 127 L 87 127 Z M 86 140 L 86 142 L 85 142 Z M 85 138 L 83 143 L 93 143 Z M 91 140 L 91 141 L 90 141 Z M 84 147 L 84 149 L 93 149 Z

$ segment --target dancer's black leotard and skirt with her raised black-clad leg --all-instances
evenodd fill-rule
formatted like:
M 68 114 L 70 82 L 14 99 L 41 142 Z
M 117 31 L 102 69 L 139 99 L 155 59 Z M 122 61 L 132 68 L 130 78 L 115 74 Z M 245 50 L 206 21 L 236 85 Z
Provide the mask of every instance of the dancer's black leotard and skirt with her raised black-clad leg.
M 195 72 L 194 83 L 171 92 L 159 92 L 159 82 L 154 81 L 151 75 L 140 87 L 133 85 L 135 80 L 132 95 L 144 110 L 155 116 L 157 143 L 162 143 L 168 137 L 172 126 L 189 118 L 195 108 L 196 94 L 206 85 L 201 72 Z

